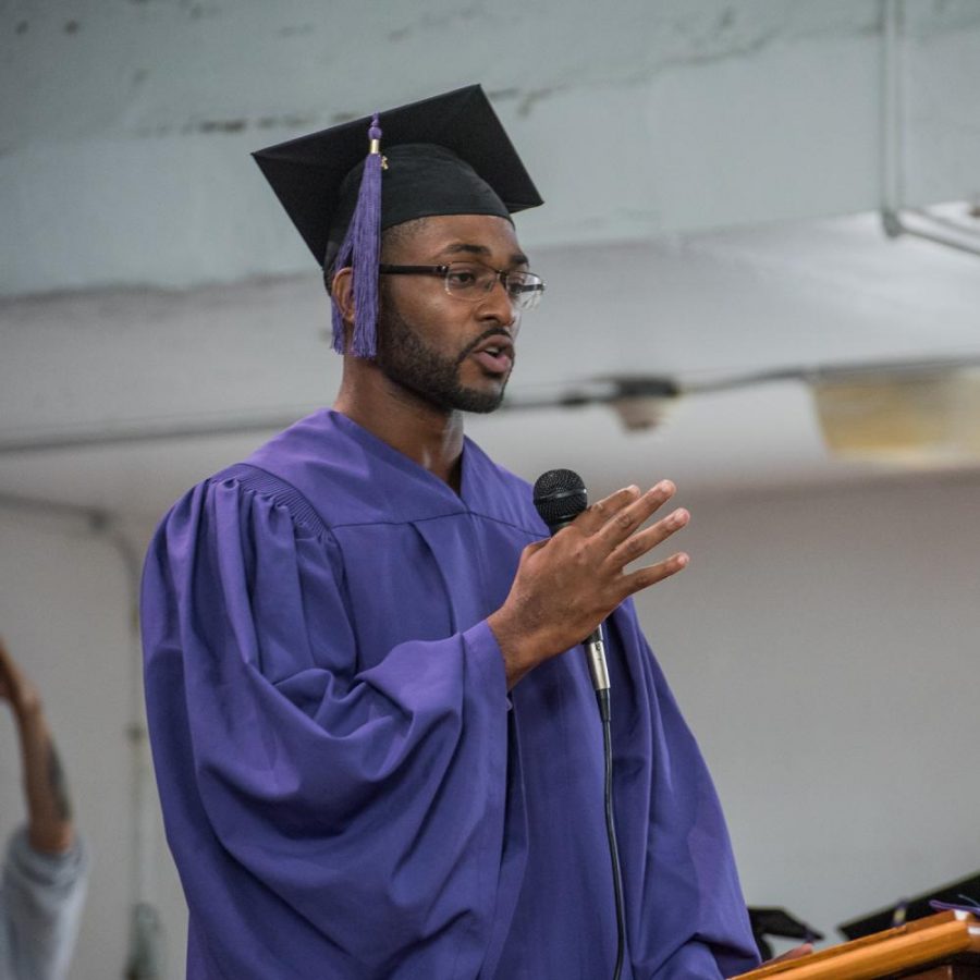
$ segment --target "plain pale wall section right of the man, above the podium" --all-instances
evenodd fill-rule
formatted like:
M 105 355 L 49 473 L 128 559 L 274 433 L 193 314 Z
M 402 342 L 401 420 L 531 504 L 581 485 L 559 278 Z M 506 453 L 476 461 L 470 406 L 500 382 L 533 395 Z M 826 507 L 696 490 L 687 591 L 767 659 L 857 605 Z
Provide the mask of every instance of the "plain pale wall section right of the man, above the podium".
M 833 936 L 980 871 L 980 480 L 714 499 L 693 515 L 690 567 L 640 614 L 748 901 Z

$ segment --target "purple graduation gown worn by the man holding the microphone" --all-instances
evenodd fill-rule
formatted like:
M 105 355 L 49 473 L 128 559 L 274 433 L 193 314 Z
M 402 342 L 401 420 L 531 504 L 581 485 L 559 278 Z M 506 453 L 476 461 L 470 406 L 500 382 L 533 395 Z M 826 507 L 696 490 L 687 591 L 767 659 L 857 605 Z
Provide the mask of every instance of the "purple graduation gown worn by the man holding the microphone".
M 473 442 L 457 495 L 328 411 L 174 505 L 143 633 L 189 978 L 612 976 L 584 654 L 509 698 L 486 622 L 546 536 Z M 630 603 L 609 656 L 624 980 L 749 969 L 718 799 Z

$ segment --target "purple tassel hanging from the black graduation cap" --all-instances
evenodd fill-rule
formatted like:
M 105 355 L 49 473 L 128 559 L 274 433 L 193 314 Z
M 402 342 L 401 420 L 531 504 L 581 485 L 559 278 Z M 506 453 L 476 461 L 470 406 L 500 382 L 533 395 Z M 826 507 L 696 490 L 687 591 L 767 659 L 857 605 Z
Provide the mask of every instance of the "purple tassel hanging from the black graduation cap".
M 354 217 L 334 260 L 334 269 L 354 268 L 354 336 L 351 353 L 373 357 L 377 353 L 378 261 L 381 256 L 381 130 L 378 114 L 368 131 L 370 152 L 364 162 L 364 175 L 357 193 Z M 333 304 L 333 350 L 344 353 L 344 321 Z

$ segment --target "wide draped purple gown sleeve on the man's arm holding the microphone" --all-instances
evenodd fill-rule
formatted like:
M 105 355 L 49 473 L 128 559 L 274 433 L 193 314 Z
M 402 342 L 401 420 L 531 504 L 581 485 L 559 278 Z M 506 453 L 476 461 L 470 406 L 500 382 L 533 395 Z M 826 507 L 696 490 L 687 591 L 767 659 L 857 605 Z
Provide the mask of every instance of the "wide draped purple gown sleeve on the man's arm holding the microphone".
M 503 847 L 499 648 L 482 622 L 359 671 L 347 601 L 330 534 L 234 479 L 191 491 L 150 547 L 147 711 L 201 976 L 480 971 Z M 397 603 L 379 589 L 373 613 Z

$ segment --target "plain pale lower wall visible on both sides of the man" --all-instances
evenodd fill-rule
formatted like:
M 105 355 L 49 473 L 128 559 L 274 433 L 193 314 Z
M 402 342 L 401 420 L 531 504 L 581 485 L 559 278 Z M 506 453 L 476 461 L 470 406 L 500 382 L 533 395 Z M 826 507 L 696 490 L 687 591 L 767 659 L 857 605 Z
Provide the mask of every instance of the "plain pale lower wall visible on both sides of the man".
M 980 480 L 686 502 L 691 566 L 639 609 L 749 902 L 835 938 L 978 870 Z M 126 947 L 125 597 L 117 553 L 79 525 L 0 512 L 0 628 L 45 691 L 96 855 L 73 980 L 120 976 Z M 8 719 L 0 731 L 5 834 L 21 809 Z M 162 847 L 156 891 L 175 980 L 185 912 Z

